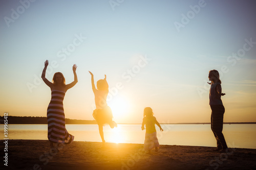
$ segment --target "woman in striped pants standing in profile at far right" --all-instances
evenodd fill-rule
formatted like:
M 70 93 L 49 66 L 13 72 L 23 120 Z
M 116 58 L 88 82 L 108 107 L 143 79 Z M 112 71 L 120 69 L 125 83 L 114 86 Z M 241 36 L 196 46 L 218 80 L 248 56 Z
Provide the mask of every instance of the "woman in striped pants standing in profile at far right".
M 227 149 L 227 144 L 222 134 L 223 129 L 223 115 L 225 112 L 225 108 L 221 101 L 221 96 L 225 95 L 221 91 L 221 80 L 220 75 L 217 70 L 209 71 L 209 81 L 210 84 L 210 108 L 211 108 L 211 130 L 214 132 L 214 136 L 217 140 L 217 150 L 225 151 Z

